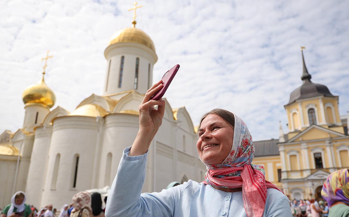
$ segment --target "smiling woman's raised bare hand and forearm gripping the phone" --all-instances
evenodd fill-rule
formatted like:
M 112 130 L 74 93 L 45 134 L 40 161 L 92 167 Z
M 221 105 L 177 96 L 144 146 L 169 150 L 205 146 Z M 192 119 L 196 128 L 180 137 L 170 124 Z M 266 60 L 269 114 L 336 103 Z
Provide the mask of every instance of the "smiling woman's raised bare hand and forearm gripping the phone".
M 139 105 L 139 131 L 133 142 L 129 156 L 138 156 L 148 151 L 151 140 L 161 126 L 165 113 L 165 101 L 150 99 L 157 91 L 163 88 L 162 80 L 155 83 L 146 93 Z M 154 106 L 158 106 L 157 109 Z

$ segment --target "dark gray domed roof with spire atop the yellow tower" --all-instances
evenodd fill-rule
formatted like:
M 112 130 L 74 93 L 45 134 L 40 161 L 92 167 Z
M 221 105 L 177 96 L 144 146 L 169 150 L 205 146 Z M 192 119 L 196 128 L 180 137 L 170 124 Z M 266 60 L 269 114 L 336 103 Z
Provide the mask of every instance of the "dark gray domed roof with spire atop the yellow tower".
M 320 85 L 317 83 L 313 83 L 310 81 L 311 75 L 308 73 L 308 70 L 305 66 L 304 55 L 302 51 L 302 59 L 303 59 L 303 74 L 302 74 L 302 86 L 298 87 L 294 91 L 292 91 L 290 95 L 290 101 L 287 105 L 294 103 L 298 99 L 311 98 L 315 96 L 332 96 L 329 89 L 325 85 Z

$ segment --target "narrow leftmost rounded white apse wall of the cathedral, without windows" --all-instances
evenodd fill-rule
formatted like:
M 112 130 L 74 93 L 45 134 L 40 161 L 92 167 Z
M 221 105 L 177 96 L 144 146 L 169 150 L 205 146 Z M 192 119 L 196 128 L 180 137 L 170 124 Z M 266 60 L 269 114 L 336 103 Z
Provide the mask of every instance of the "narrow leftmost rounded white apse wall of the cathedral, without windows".
M 43 126 L 35 129 L 31 153 L 32 160 L 30 161 L 27 186 L 25 188 L 27 203 L 34 204 L 35 207 L 39 207 L 41 204 L 51 134 L 51 125 L 46 126 L 46 129 Z

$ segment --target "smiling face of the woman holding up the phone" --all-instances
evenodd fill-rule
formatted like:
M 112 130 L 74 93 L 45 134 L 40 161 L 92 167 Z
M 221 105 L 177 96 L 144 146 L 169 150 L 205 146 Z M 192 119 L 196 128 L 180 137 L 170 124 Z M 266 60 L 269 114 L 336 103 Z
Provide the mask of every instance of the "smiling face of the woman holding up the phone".
M 223 163 L 233 145 L 233 127 L 220 116 L 209 114 L 202 120 L 198 134 L 196 148 L 202 162 Z

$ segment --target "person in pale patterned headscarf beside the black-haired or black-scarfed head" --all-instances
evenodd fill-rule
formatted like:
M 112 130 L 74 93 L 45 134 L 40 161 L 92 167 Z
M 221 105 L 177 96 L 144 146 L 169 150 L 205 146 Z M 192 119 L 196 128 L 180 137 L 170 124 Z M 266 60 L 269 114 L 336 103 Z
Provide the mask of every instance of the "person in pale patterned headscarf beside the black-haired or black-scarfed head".
M 91 196 L 86 191 L 81 191 L 73 196 L 73 210 L 70 217 L 91 217 Z

